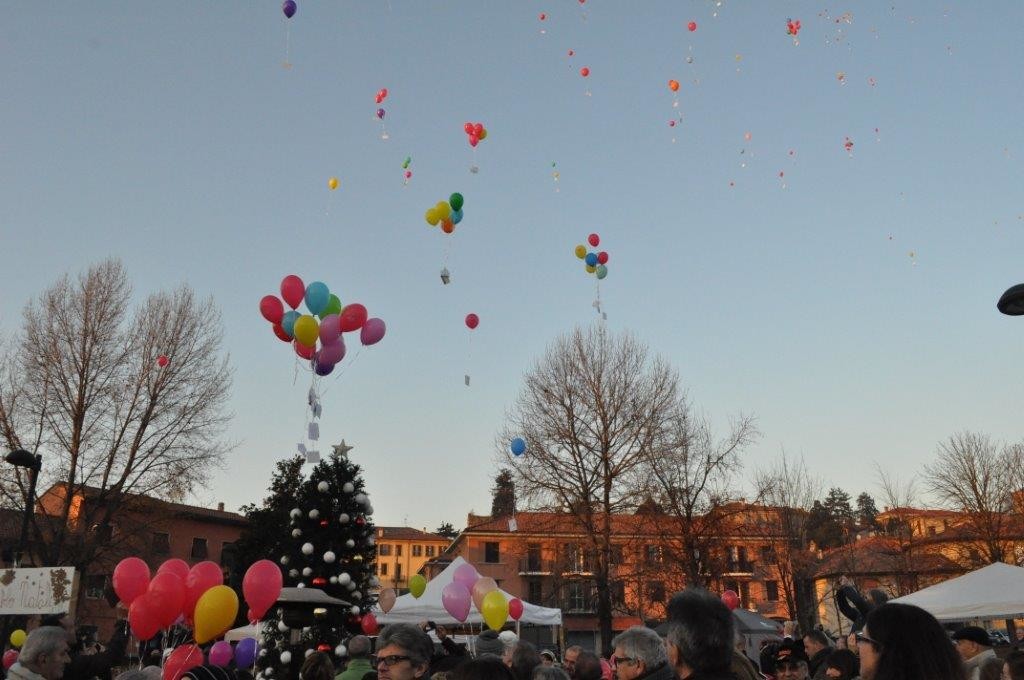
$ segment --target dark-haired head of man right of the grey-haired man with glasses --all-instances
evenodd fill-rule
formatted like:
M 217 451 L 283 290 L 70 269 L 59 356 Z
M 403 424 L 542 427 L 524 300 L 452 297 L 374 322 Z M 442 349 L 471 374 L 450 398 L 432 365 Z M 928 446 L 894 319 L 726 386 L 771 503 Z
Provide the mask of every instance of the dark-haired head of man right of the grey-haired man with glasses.
M 733 618 L 722 600 L 687 588 L 669 601 L 669 663 L 677 675 L 728 673 L 732 664 Z

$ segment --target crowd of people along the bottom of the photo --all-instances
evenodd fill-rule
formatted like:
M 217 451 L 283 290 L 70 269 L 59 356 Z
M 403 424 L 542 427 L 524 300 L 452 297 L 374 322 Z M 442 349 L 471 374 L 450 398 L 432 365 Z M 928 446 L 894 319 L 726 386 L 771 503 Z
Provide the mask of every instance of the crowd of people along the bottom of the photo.
M 743 652 L 732 611 L 711 593 L 687 589 L 669 602 L 664 634 L 630 628 L 611 641 L 607 658 L 570 646 L 559 660 L 512 631 L 484 631 L 467 646 L 441 626 L 392 624 L 376 644 L 351 638 L 342 669 L 329 654 L 308 655 L 300 680 L 1024 680 L 1024 651 L 999 658 L 981 628 L 963 628 L 950 640 L 919 607 L 880 598 L 849 601 L 849 639 L 833 640 L 820 630 L 800 636 L 787 625 L 782 640 L 765 644 L 757 661 Z M 161 678 L 159 658 L 112 677 L 124 653 L 117 635 L 105 649 L 85 649 L 70 618 L 42 623 L 26 639 L 8 680 Z M 181 680 L 251 680 L 246 676 L 201 666 Z

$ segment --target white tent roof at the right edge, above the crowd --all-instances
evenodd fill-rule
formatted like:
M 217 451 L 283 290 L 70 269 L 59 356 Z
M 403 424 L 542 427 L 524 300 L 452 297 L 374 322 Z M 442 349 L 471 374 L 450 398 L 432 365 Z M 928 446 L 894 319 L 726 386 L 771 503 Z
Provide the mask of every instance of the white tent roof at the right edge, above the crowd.
M 998 562 L 892 600 L 914 604 L 939 621 L 1024 615 L 1024 568 Z

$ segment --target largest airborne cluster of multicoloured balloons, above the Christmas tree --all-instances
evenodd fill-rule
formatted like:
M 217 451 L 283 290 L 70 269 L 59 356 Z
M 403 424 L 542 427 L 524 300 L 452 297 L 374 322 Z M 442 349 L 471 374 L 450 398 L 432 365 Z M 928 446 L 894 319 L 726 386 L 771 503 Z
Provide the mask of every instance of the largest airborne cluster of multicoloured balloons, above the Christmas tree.
M 342 306 L 338 296 L 318 281 L 306 286 L 295 274 L 289 274 L 281 282 L 281 297 L 292 308 L 290 311 L 285 311 L 276 296 L 266 295 L 260 300 L 260 313 L 273 325 L 279 339 L 292 343 L 296 354 L 312 363 L 318 376 L 329 375 L 345 357 L 342 333 L 359 331 L 364 345 L 377 344 L 384 337 L 382 320 L 368 318 L 367 308 L 357 302 Z M 308 314 L 296 310 L 303 301 Z

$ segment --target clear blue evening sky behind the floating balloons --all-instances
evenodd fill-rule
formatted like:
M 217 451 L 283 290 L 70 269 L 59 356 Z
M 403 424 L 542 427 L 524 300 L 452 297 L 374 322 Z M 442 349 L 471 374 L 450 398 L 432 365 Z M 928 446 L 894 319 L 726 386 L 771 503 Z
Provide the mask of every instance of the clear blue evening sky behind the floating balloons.
M 0 333 L 111 256 L 135 302 L 208 296 L 238 445 L 196 500 L 238 508 L 305 433 L 259 299 L 323 281 L 388 334 L 324 381 L 322 451 L 354 447 L 378 524 L 462 526 L 523 373 L 597 322 L 572 253 L 597 232 L 608 328 L 719 431 L 757 417 L 749 471 L 784 450 L 873 493 L 957 430 L 1024 436 L 1024 321 L 995 309 L 1024 281 L 1022 25 L 1012 0 L 25 3 L 0 24 Z M 423 214 L 453 192 L 449 237 Z

